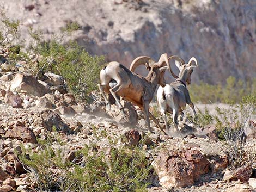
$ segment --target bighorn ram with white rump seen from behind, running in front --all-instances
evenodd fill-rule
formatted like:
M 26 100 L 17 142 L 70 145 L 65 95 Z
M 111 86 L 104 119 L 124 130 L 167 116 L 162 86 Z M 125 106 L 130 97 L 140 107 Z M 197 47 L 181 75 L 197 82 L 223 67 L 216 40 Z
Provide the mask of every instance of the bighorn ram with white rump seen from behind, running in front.
M 185 61 L 178 56 L 172 56 L 168 59 L 175 59 L 175 65 L 179 68 L 180 73 L 179 76 L 176 76 L 169 66 L 170 73 L 172 73 L 176 80 L 175 82 L 167 84 L 164 88 L 159 87 L 156 97 L 166 129 L 168 130 L 166 112 L 169 112 L 173 114 L 173 123 L 179 133 L 178 114 L 181 113 L 183 115 L 182 110 L 185 108 L 186 104 L 190 105 L 192 108 L 194 117 L 197 115 L 187 90 L 187 84 L 189 85 L 191 83 L 191 73 L 193 72 L 193 68 L 197 67 L 198 64 L 194 57 L 188 61 L 188 64 L 185 64 Z M 192 61 L 194 61 L 196 65 L 192 64 Z

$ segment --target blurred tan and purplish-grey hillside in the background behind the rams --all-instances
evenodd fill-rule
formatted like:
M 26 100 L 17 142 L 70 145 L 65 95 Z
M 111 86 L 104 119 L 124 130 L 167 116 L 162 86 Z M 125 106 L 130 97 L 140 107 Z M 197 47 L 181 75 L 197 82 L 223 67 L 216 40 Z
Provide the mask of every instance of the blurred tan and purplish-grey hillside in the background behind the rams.
M 0 6 L 21 21 L 25 39 L 29 26 L 48 39 L 77 22 L 80 30 L 72 38 L 108 61 L 129 66 L 139 55 L 157 60 L 167 52 L 199 60 L 196 82 L 256 76 L 254 0 L 2 0 Z

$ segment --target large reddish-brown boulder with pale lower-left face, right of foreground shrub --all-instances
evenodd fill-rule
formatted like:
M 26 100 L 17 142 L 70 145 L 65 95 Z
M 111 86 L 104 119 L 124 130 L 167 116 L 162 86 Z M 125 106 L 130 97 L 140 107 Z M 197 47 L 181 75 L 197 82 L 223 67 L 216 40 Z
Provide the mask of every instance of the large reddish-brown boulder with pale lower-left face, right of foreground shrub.
M 161 151 L 153 162 L 159 183 L 168 189 L 191 187 L 210 170 L 210 162 L 198 150 Z

